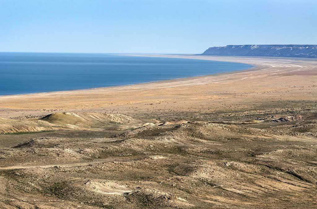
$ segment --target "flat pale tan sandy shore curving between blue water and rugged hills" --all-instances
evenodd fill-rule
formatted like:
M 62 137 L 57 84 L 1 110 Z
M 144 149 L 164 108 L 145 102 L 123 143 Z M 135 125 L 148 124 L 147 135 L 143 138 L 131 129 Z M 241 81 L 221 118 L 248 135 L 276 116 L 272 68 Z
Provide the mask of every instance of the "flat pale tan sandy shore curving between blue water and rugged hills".
M 16 117 L 55 111 L 107 111 L 134 115 L 140 111 L 215 111 L 260 108 L 316 100 L 317 61 L 292 58 L 216 57 L 195 55 L 129 55 L 240 62 L 253 69 L 226 74 L 158 81 L 120 87 L 0 97 L 0 116 Z M 36 85 L 36 84 L 34 84 Z M 148 104 L 154 105 L 148 105 Z M 208 106 L 208 108 L 206 108 Z

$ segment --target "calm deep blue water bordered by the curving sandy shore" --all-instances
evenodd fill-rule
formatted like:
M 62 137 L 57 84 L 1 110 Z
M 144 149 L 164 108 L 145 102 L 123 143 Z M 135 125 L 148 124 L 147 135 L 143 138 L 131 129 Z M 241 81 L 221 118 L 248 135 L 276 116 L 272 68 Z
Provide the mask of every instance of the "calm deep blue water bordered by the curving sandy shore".
M 249 69 L 242 63 L 85 53 L 0 53 L 0 95 L 136 84 Z

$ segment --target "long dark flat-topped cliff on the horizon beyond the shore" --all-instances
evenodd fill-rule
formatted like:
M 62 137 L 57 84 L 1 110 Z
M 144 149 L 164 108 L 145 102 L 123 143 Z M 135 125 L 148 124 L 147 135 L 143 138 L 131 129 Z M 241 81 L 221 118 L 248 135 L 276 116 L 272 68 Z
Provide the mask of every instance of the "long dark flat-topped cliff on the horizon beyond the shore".
M 215 46 L 207 49 L 202 55 L 317 58 L 317 45 Z

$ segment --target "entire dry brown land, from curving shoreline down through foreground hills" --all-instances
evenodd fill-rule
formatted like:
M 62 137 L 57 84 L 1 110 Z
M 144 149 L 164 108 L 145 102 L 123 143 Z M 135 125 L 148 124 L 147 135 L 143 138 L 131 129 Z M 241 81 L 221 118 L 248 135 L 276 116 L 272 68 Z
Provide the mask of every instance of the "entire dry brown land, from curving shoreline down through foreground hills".
M 0 208 L 316 208 L 317 61 L 0 97 Z M 36 84 L 34 84 L 36 85 Z

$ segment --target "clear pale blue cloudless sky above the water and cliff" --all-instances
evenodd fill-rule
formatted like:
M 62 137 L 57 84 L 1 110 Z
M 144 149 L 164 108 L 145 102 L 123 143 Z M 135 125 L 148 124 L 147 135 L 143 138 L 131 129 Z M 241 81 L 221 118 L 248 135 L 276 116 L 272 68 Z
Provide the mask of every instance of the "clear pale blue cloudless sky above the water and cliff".
M 317 44 L 317 0 L 0 0 L 0 51 L 202 53 Z

